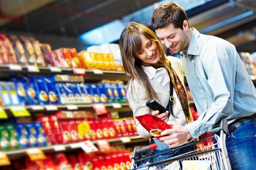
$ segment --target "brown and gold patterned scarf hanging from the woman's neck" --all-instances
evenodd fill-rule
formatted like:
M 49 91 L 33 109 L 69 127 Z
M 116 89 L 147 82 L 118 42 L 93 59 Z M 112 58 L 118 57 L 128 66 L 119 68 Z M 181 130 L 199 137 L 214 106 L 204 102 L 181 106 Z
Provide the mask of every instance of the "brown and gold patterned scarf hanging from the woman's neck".
M 179 76 L 175 73 L 175 70 L 173 69 L 173 67 L 171 67 L 171 63 L 169 65 L 171 69 L 171 73 L 169 73 L 169 76 L 170 76 L 171 82 L 173 83 L 173 88 L 175 89 L 175 92 L 177 93 L 177 96 L 181 101 L 181 106 L 186 117 L 186 122 L 191 123 L 193 122 L 193 118 L 189 109 L 185 87 L 182 84 Z

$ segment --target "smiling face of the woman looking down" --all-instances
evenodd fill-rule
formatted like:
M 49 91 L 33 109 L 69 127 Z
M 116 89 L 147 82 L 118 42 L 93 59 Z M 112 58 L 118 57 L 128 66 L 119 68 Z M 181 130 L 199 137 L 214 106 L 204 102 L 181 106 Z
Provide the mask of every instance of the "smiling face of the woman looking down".
M 137 52 L 137 57 L 146 65 L 153 65 L 160 60 L 160 51 L 155 41 L 147 39 L 144 35 L 140 35 L 141 47 Z

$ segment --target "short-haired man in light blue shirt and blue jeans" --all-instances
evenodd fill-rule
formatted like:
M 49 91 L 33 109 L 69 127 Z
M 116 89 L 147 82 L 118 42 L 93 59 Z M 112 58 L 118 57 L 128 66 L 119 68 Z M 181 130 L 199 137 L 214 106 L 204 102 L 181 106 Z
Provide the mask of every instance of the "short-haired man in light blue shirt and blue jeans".
M 211 131 L 226 118 L 226 147 L 232 169 L 256 169 L 256 90 L 233 44 L 190 28 L 184 9 L 165 3 L 152 15 L 161 43 L 180 53 L 186 79 L 200 115 L 186 125 L 173 125 L 161 140 L 169 146 Z M 184 140 L 186 139 L 186 140 Z

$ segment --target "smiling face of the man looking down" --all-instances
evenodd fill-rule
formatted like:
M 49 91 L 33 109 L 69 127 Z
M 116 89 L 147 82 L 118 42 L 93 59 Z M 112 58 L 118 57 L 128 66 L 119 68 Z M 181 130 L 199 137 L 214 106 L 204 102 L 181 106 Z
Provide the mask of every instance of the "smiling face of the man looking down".
M 173 24 L 169 24 L 164 28 L 156 29 L 156 35 L 158 35 L 161 43 L 175 54 L 188 50 L 186 31 L 184 29 L 175 28 Z

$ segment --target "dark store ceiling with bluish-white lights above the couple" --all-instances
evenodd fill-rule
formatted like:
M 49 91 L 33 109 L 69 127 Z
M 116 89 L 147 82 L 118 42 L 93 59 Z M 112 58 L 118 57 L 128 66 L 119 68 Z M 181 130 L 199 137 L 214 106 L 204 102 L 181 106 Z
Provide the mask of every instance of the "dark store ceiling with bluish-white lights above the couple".
M 51 44 L 53 50 L 77 51 L 105 42 L 118 43 L 129 22 L 150 26 L 157 0 L 1 0 L 0 31 L 28 35 Z M 238 52 L 256 52 L 255 0 L 177 0 L 190 27 L 232 42 Z M 111 24 L 117 24 L 112 25 Z M 108 27 L 110 26 L 110 27 Z M 87 39 L 83 33 L 91 32 Z M 90 37 L 91 36 L 91 37 Z M 86 36 L 85 36 L 86 37 Z

